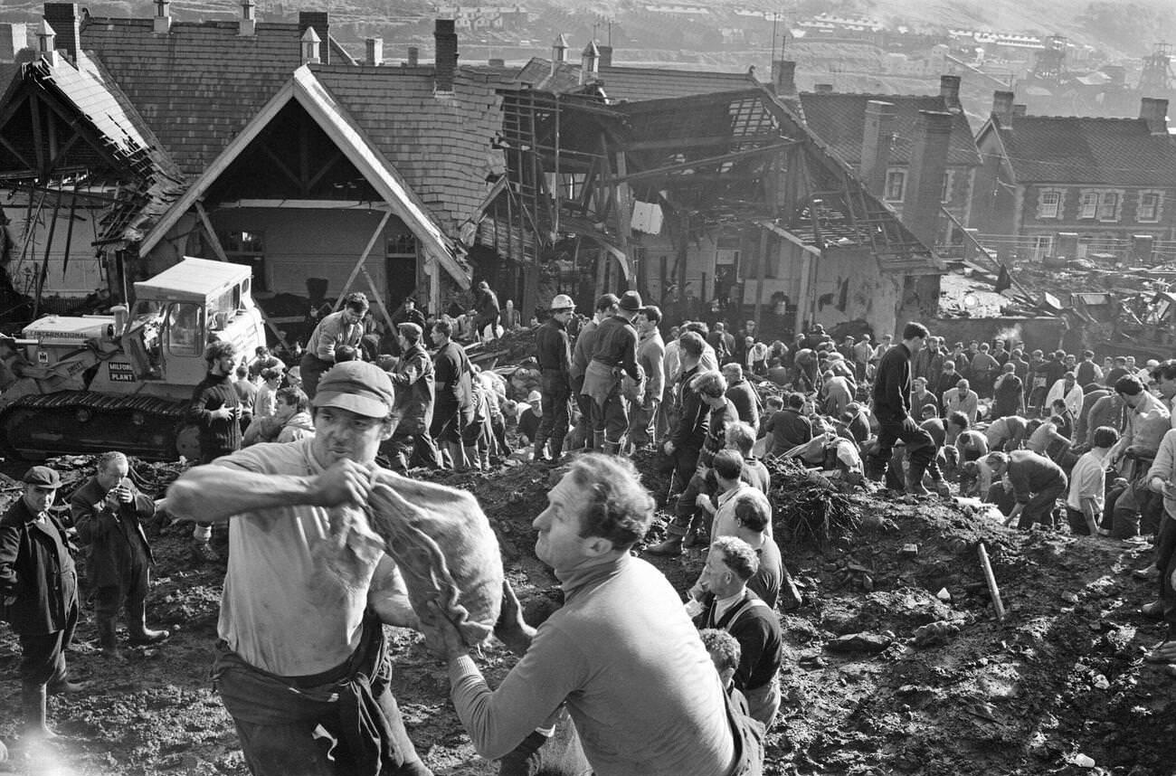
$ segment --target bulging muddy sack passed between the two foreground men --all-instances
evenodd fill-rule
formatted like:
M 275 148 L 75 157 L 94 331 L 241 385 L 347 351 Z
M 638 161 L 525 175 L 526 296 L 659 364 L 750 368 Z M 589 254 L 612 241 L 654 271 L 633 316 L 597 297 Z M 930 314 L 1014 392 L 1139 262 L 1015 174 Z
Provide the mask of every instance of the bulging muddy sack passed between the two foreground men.
M 502 606 L 503 573 L 497 537 L 477 500 L 380 470 L 367 514 L 405 577 L 417 616 L 435 602 L 468 645 L 486 641 Z

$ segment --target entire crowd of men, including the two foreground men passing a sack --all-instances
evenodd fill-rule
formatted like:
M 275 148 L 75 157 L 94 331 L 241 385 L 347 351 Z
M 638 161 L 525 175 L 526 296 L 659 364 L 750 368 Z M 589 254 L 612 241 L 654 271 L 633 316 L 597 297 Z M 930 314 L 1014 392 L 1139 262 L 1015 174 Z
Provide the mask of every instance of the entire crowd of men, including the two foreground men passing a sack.
M 474 332 L 495 336 L 496 297 L 475 310 Z M 1149 658 L 1176 663 L 1176 360 L 1138 369 L 1089 352 L 1027 360 L 1001 341 L 947 349 L 920 323 L 897 342 L 837 343 L 815 326 L 767 343 L 750 321 L 735 334 L 723 322 L 668 326 L 632 290 L 601 296 L 590 319 L 561 294 L 535 326 L 537 381 L 520 402 L 470 362 L 454 320 L 406 312 L 394 343 L 373 344 L 367 300 L 348 295 L 292 369 L 265 349 L 206 350 L 189 412 L 200 466 L 165 506 L 194 522 L 202 556 L 227 524 L 213 675 L 254 774 L 429 772 L 389 689 L 381 623 L 425 633 L 474 745 L 502 774 L 535 772 L 568 727 L 583 767 L 602 776 L 760 772 L 781 703 L 777 609 L 800 604 L 773 537 L 768 457 L 916 495 L 955 483 L 1025 529 L 1155 535 L 1140 574 L 1157 583 L 1145 614 L 1165 620 L 1170 640 Z M 566 602 L 534 628 L 507 586 L 495 633 L 519 662 L 492 689 L 461 633 L 414 613 L 382 546 L 353 542 L 341 521 L 366 502 L 374 467 L 489 469 L 509 454 L 508 426 L 530 466 L 569 464 L 534 520 L 536 555 Z M 707 550 L 684 604 L 632 551 L 654 514 L 628 460 L 639 449 L 673 470 L 673 520 L 644 553 Z M 71 535 L 49 510 L 58 486 L 34 467 L 0 523 L 26 729 L 41 737 L 52 735 L 45 694 L 80 689 L 64 657 L 79 615 Z M 134 490 L 126 460 L 103 456 L 73 510 L 103 654 L 121 658 L 120 609 L 132 642 L 167 638 L 147 628 L 143 606 L 142 524 L 155 503 Z M 29 578 L 44 593 L 29 595 Z

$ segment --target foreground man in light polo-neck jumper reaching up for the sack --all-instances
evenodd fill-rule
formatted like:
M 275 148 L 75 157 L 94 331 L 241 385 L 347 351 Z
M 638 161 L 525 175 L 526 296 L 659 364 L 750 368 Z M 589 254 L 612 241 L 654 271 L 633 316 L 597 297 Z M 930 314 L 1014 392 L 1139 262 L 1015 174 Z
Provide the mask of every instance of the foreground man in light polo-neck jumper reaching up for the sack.
M 654 510 L 633 464 L 584 455 L 547 499 L 535 555 L 555 569 L 566 603 L 535 629 L 505 596 L 495 635 L 521 657 L 497 689 L 439 610 L 421 617 L 426 643 L 448 661 L 450 697 L 474 748 L 502 757 L 567 704 L 597 774 L 749 772 L 751 742 L 736 740 L 677 594 L 629 551 Z

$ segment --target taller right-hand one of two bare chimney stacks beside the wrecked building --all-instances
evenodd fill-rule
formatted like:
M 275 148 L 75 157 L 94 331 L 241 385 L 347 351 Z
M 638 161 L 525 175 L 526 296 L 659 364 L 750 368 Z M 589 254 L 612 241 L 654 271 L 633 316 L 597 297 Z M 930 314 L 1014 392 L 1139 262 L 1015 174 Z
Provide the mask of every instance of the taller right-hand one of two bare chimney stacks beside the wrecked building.
M 902 220 L 927 247 L 934 247 L 943 202 L 943 175 L 955 115 L 946 111 L 920 111 L 915 145 L 907 169 Z

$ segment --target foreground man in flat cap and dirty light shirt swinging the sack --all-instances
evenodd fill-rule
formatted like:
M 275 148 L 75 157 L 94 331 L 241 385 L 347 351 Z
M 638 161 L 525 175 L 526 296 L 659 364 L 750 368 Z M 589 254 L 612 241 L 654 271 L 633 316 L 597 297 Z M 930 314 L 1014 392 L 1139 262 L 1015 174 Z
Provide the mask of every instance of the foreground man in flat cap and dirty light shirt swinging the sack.
M 313 437 L 194 467 L 167 491 L 178 519 L 229 526 L 212 673 L 256 776 L 430 774 L 392 695 L 382 628 L 416 624 L 407 591 L 383 541 L 348 524 L 394 393 L 379 367 L 340 363 L 319 383 Z

